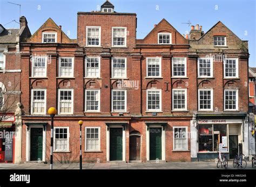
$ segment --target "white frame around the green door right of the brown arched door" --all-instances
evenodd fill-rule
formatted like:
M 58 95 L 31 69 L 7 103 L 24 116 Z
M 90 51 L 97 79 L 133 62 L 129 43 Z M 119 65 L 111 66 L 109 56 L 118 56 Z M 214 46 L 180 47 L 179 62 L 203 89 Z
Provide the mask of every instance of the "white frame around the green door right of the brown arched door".
M 147 130 L 147 128 L 161 128 L 161 155 L 162 161 L 165 161 L 165 130 L 166 128 L 164 128 L 162 126 L 162 124 L 148 124 L 148 126 L 146 126 L 146 159 L 147 161 L 150 161 L 150 130 Z

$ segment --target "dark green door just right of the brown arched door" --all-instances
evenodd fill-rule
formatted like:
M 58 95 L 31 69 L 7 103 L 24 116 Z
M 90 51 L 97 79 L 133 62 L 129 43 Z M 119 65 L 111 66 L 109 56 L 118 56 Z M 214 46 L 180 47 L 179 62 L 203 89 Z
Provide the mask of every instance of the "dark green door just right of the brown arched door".
M 150 128 L 150 160 L 161 160 L 161 128 Z

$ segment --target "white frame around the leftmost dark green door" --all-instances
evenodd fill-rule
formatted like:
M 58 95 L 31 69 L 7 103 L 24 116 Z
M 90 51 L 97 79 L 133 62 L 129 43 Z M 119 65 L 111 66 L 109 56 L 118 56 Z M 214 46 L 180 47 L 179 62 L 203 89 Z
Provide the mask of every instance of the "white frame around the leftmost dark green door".
M 46 127 L 44 128 L 43 124 L 32 124 L 26 128 L 26 162 L 30 161 L 30 132 L 31 128 L 42 128 L 43 129 L 43 162 L 45 162 L 45 155 L 46 155 Z M 45 130 L 44 130 L 45 129 Z

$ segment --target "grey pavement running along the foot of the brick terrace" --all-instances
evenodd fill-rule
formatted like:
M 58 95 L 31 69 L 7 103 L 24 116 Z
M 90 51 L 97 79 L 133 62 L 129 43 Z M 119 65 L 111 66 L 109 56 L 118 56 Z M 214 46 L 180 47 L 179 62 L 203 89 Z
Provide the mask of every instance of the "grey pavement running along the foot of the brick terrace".
M 50 164 L 11 164 L 0 163 L 0 170 L 2 169 L 50 169 Z M 79 169 L 79 163 L 53 163 L 53 169 Z M 219 169 L 215 162 L 146 162 L 146 163 L 124 163 L 124 162 L 109 162 L 109 163 L 83 163 L 83 169 Z M 222 168 L 224 170 L 224 168 Z M 227 169 L 233 168 L 230 161 Z M 251 162 L 247 162 L 245 169 L 252 168 Z

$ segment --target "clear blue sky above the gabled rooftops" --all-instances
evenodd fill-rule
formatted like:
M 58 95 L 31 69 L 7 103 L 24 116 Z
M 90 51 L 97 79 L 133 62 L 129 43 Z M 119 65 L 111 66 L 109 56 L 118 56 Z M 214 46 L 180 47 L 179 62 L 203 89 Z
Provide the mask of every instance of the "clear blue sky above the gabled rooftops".
M 77 12 L 97 10 L 105 0 L 0 0 L 0 23 L 2 25 L 18 20 L 21 15 L 28 20 L 31 33 L 34 33 L 46 19 L 51 17 L 70 38 L 77 37 Z M 137 13 L 137 38 L 144 38 L 153 25 L 165 18 L 181 34 L 190 31 L 192 25 L 202 25 L 203 31 L 210 29 L 219 20 L 242 40 L 249 41 L 250 66 L 256 67 L 256 3 L 253 0 L 110 0 L 117 12 Z M 6 28 L 18 27 L 11 22 Z

